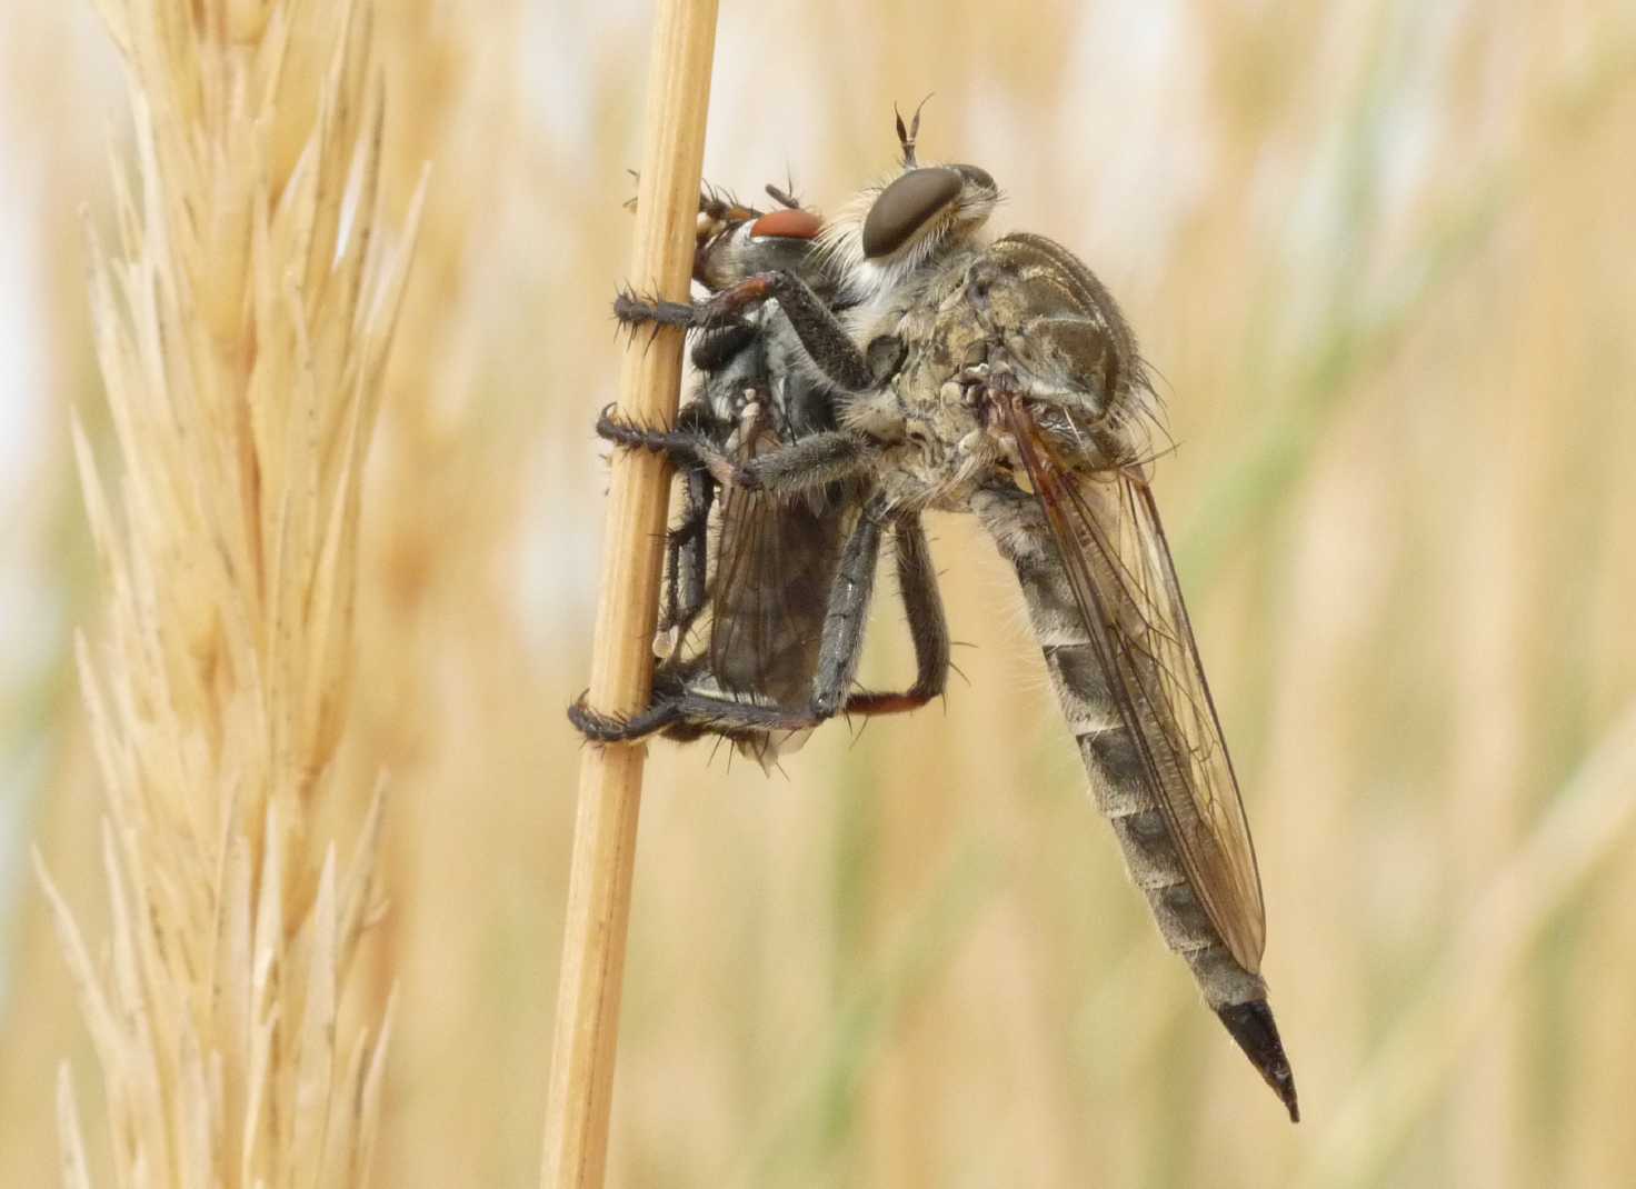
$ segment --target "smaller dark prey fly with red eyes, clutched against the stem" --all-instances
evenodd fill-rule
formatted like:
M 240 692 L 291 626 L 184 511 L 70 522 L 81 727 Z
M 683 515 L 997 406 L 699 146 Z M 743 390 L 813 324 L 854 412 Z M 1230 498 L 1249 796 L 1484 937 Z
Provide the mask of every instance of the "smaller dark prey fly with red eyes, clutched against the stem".
M 723 291 L 777 268 L 833 301 L 833 285 L 816 267 L 820 219 L 785 191 L 767 191 L 782 209 L 762 213 L 705 191 L 695 281 Z M 641 309 L 631 294 L 615 301 L 627 322 L 641 321 Z M 671 312 L 677 309 L 689 311 Z M 569 718 L 587 738 L 723 736 L 771 767 L 836 713 L 913 710 L 942 693 L 949 636 L 918 512 L 887 512 L 859 476 L 820 479 L 793 497 L 733 482 L 743 468 L 780 456 L 785 446 L 833 438 L 834 389 L 795 365 L 800 352 L 777 303 L 764 303 L 700 327 L 692 352 L 699 389 L 677 414 L 676 430 L 638 430 L 609 412 L 597 424 L 604 438 L 659 450 L 677 464 L 682 515 L 667 536 L 653 700 L 631 718 L 576 703 Z M 918 675 L 903 693 L 852 692 L 885 530 Z M 694 641 L 707 610 L 703 638 Z

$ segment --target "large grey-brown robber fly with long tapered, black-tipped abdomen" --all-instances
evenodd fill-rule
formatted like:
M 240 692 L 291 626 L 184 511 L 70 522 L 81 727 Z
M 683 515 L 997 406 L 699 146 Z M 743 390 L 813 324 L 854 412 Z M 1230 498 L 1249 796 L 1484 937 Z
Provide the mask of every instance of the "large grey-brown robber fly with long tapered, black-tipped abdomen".
M 1040 236 L 987 242 L 975 165 L 903 165 L 821 234 L 834 294 L 769 270 L 656 321 L 775 299 L 839 430 L 728 468 L 785 497 L 861 478 L 887 509 L 978 515 L 1011 563 L 1101 811 L 1160 932 L 1299 1119 L 1260 976 L 1255 847 L 1148 487 L 1155 396 L 1101 281 Z

